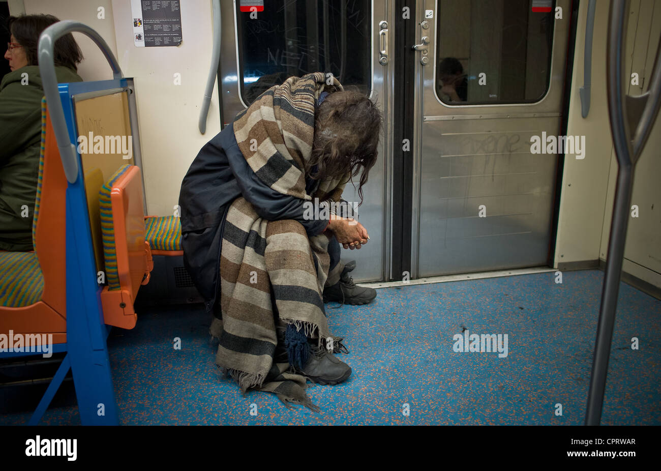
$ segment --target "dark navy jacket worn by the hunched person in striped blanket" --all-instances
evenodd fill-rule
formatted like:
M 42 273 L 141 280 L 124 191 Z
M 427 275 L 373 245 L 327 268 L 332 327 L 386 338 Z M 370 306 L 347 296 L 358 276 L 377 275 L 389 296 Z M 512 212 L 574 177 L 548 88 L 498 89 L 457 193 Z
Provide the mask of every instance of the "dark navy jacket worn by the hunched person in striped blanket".
M 312 182 L 307 183 L 307 193 L 312 194 Z M 239 150 L 233 126 L 225 126 L 195 157 L 179 194 L 184 265 L 208 312 L 220 300 L 219 263 L 227 209 L 241 195 L 261 218 L 297 220 L 308 235 L 321 234 L 328 224 L 328 220 L 304 219 L 303 200 L 262 183 Z

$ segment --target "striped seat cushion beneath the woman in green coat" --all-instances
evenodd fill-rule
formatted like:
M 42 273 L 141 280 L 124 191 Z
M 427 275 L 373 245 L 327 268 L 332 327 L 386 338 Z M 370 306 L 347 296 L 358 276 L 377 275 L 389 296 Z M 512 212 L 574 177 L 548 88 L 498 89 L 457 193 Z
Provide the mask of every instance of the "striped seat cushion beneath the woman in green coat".
M 34 252 L 0 252 L 0 306 L 21 308 L 41 299 L 44 277 Z

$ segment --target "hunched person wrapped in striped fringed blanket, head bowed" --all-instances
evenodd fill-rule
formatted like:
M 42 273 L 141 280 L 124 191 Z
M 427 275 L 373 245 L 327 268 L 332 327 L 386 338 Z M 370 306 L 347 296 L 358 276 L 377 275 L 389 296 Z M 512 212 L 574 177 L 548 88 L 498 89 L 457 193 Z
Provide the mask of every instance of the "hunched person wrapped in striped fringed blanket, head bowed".
M 360 249 L 369 235 L 355 220 L 306 209 L 338 202 L 361 171 L 362 199 L 381 120 L 373 102 L 330 74 L 290 77 L 208 142 L 184 177 L 184 263 L 215 315 L 216 364 L 242 391 L 316 409 L 307 379 L 337 384 L 350 376 L 332 355 L 344 346 L 329 331 L 323 302 L 375 298 L 346 275 L 352 267 L 340 262 L 338 245 Z

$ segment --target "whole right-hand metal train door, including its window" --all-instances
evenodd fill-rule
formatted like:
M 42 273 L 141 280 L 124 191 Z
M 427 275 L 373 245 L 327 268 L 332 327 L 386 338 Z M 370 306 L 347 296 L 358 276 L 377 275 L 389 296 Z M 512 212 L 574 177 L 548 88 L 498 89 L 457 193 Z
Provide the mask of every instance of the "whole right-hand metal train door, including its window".
M 418 0 L 412 277 L 547 265 L 569 0 Z

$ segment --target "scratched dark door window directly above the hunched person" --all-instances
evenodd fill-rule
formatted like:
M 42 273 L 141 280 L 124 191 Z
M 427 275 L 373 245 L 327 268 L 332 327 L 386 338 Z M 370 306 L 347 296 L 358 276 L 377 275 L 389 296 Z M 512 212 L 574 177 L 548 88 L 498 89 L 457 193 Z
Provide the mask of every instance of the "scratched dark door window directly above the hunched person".
M 292 75 L 319 71 L 369 94 L 371 1 L 264 0 L 256 18 L 236 4 L 239 83 L 247 105 Z

